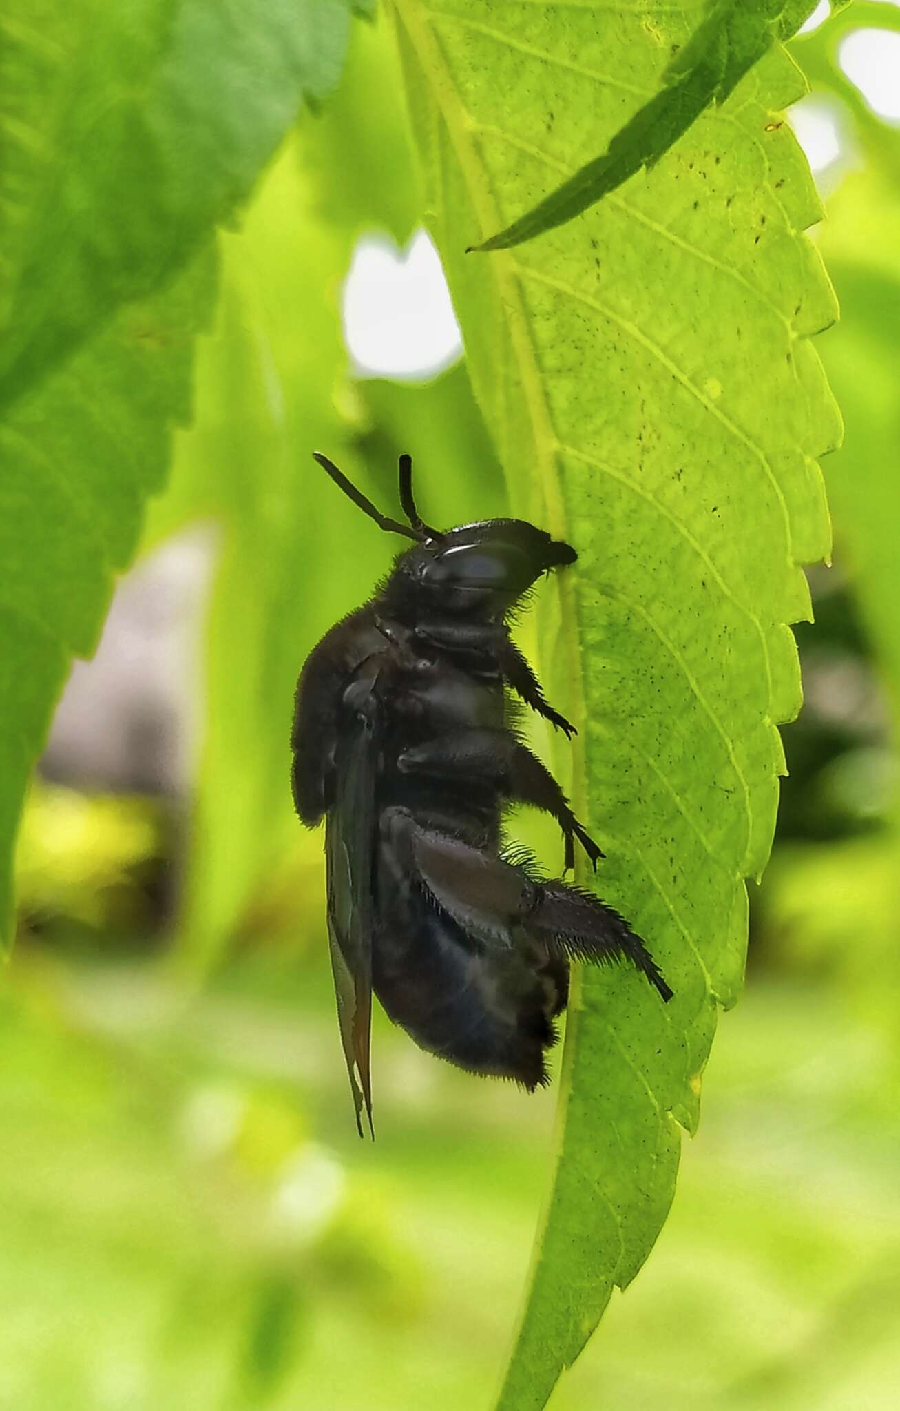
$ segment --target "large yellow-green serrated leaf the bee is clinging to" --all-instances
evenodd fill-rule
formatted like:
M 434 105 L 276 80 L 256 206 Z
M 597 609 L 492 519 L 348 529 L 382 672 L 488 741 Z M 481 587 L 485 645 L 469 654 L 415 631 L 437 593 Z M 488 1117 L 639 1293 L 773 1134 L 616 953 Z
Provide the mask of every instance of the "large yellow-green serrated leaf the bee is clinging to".
M 515 509 L 576 545 L 539 663 L 581 725 L 597 886 L 646 937 L 666 1007 L 583 971 L 556 1168 L 501 1397 L 537 1408 L 635 1276 L 694 1130 L 717 1006 L 738 996 L 800 706 L 815 457 L 839 420 L 808 334 L 835 317 L 780 48 L 649 172 L 515 251 L 464 248 L 535 206 L 660 89 L 703 4 L 391 7 L 475 395 Z

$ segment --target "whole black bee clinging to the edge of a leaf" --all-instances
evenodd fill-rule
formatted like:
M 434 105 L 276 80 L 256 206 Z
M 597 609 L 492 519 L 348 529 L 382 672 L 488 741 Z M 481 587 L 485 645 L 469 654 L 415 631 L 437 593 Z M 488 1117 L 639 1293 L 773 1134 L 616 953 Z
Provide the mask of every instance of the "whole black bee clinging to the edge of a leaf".
M 570 958 L 626 959 L 664 1000 L 671 991 L 618 912 L 502 848 L 504 810 L 518 801 L 556 818 L 567 871 L 576 840 L 594 866 L 602 856 L 511 728 L 513 693 L 576 732 L 508 625 L 535 580 L 576 550 L 522 519 L 432 529 L 409 456 L 399 460 L 408 525 L 316 460 L 377 525 L 413 540 L 310 653 L 291 737 L 296 811 L 309 827 L 326 818 L 332 967 L 361 1136 L 363 1106 L 372 1126 L 372 991 L 422 1048 L 529 1091 L 547 1081 Z

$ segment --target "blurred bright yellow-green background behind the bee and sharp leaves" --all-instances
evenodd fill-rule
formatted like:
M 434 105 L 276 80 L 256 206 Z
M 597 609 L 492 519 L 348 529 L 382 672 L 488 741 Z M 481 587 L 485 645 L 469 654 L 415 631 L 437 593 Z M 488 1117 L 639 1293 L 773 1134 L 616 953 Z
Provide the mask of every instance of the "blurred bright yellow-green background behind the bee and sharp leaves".
M 791 120 L 842 306 L 818 341 L 846 423 L 822 466 L 834 564 L 811 574 L 807 704 L 703 1140 L 652 1277 L 614 1301 L 560 1411 L 897 1400 L 900 107 L 872 85 L 893 63 L 896 104 L 900 8 L 827 11 L 791 45 L 811 86 Z M 303 650 L 389 547 L 333 512 L 306 449 L 388 502 L 415 443 L 437 522 L 505 504 L 463 364 L 416 371 L 412 344 L 406 380 L 354 363 L 360 236 L 430 268 L 399 92 L 384 28 L 354 24 L 337 93 L 221 237 L 193 429 L 31 793 L 0 1029 L 1 1407 L 468 1408 L 508 1343 L 553 1095 L 473 1091 L 377 1019 L 389 1140 L 357 1143 L 322 840 L 284 777 Z M 76 339 L 79 310 L 61 317 Z M 450 327 L 422 361 L 457 353 Z

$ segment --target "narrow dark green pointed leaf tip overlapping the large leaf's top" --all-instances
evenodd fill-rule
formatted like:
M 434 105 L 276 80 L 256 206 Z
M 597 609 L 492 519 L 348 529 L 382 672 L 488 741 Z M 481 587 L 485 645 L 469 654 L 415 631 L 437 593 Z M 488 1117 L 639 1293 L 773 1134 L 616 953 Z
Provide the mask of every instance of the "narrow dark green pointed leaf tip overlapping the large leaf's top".
M 474 246 L 474 250 L 509 250 L 533 240 L 545 230 L 580 216 L 635 172 L 652 166 L 711 103 L 725 102 L 776 37 L 784 40 L 796 34 L 815 8 L 815 0 L 790 0 L 787 4 L 783 0 L 725 0 L 708 8 L 684 48 L 671 45 L 673 58 L 663 75 L 663 87 L 615 133 L 607 151 L 585 162 L 529 212 Z M 646 27 L 652 25 L 649 11 Z M 482 28 L 494 38 L 502 38 L 497 30 Z M 662 42 L 662 32 L 656 34 Z M 639 89 L 632 86 L 632 92 Z

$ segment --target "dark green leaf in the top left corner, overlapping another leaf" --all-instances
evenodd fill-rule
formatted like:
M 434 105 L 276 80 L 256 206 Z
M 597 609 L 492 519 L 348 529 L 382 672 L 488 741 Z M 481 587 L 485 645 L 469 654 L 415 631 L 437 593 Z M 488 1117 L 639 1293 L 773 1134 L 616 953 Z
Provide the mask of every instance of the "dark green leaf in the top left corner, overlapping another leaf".
M 247 199 L 340 75 L 346 0 L 11 0 L 0 124 L 0 405 Z

